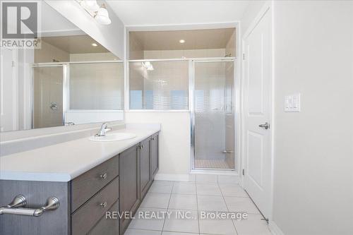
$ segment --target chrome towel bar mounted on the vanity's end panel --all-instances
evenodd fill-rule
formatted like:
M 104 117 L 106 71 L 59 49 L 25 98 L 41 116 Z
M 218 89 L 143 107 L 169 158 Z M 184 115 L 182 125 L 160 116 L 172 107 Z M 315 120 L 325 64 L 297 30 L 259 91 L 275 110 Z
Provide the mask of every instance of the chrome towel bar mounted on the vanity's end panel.
M 59 199 L 50 197 L 47 199 L 46 205 L 40 208 L 25 208 L 27 200 L 23 195 L 16 195 L 12 202 L 5 207 L 0 207 L 0 215 L 11 214 L 11 215 L 27 215 L 39 217 L 48 210 L 56 210 L 59 207 Z

